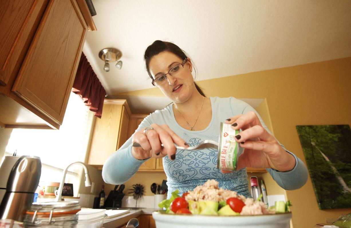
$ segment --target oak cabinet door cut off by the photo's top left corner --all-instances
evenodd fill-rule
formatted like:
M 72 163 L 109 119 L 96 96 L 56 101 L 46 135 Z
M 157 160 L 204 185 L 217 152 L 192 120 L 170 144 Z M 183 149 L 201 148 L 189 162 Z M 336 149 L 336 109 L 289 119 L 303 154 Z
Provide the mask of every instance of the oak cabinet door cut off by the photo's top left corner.
M 18 62 L 24 58 L 47 3 L 48 0 L 1 1 L 0 85 L 11 83 L 17 74 Z

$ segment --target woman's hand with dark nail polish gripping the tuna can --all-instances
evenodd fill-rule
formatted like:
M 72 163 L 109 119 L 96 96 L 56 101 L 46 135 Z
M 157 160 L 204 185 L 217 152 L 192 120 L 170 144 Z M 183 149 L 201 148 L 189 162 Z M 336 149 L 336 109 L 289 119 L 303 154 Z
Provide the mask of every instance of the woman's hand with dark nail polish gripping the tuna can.
M 233 116 L 225 123 L 231 124 L 234 130 L 241 129 L 235 140 L 244 148 L 244 152 L 238 158 L 237 170 L 252 167 L 289 171 L 294 168 L 296 164 L 294 156 L 286 152 L 264 129 L 255 112 Z

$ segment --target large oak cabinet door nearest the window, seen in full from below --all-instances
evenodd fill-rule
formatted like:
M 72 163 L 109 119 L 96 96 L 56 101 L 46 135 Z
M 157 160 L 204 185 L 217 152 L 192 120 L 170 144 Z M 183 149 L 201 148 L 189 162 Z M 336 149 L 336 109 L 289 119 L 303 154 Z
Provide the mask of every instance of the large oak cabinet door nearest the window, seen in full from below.
M 51 0 L 12 91 L 62 124 L 87 26 L 74 0 Z

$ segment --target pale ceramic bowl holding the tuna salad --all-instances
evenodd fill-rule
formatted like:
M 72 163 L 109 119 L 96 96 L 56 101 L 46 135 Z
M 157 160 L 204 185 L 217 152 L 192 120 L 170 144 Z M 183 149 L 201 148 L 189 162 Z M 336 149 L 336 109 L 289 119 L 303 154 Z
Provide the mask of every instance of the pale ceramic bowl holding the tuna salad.
M 165 211 L 152 213 L 156 228 L 289 228 L 291 212 L 274 215 L 173 215 Z

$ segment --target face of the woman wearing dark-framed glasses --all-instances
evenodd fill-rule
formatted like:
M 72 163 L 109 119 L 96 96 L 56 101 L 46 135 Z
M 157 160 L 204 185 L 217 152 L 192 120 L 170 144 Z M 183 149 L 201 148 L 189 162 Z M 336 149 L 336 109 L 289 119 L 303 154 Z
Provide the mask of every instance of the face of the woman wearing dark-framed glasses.
M 196 87 L 194 85 L 194 79 L 191 74 L 192 64 L 190 59 L 185 62 L 184 67 L 181 65 L 177 75 L 167 74 L 177 64 L 183 62 L 178 56 L 174 55 L 169 51 L 163 51 L 158 55 L 151 58 L 149 69 L 153 79 L 166 75 L 166 80 L 163 84 L 158 87 L 165 96 L 170 98 L 175 103 L 186 102 L 192 95 Z

